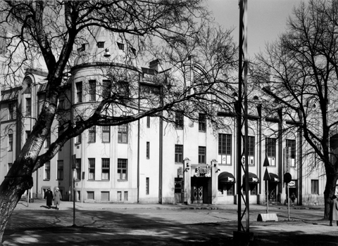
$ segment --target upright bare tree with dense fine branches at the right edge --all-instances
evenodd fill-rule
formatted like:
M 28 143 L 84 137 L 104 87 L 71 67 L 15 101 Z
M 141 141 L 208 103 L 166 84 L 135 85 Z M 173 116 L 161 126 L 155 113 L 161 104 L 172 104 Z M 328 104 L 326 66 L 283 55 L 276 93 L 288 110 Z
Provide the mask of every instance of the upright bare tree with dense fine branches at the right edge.
M 303 132 L 307 143 L 303 157 L 318 157 L 323 162 L 325 218 L 330 214 L 330 198 L 338 179 L 337 153 L 332 148 L 337 143 L 330 143 L 338 123 L 337 13 L 338 2 L 334 0 L 309 1 L 294 8 L 287 32 L 266 47 L 265 56 L 257 56 L 260 69 L 256 70 L 265 93 L 277 100 L 275 108 L 283 112 L 284 119 L 295 123 L 285 131 Z M 266 75 L 271 75 L 270 81 Z M 318 162 L 308 163 L 318 168 Z

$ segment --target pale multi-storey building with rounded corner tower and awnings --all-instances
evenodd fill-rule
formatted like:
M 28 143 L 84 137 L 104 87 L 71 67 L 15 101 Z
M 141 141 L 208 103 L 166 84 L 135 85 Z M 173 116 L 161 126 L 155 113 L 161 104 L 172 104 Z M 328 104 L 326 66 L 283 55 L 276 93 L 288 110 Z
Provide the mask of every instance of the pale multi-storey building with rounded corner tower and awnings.
M 111 92 L 112 77 L 107 75 L 112 71 L 118 75 L 113 84 L 120 93 L 136 90 L 158 94 L 147 79 L 163 73 L 158 61 L 140 68 L 133 58 L 134 48 L 118 36 L 97 30 L 95 37 L 79 48 L 80 55 L 68 71 L 46 148 L 67 122 L 92 114 L 107 93 L 108 84 Z M 187 65 L 192 67 L 192 80 L 204 72 L 191 60 Z M 42 71 L 27 70 L 22 86 L 1 91 L 0 180 L 30 134 L 44 100 L 45 78 Z M 123 113 L 125 109 L 111 110 Z M 208 124 L 204 113 L 193 121 L 180 112 L 175 113 L 173 122 L 144 117 L 120 126 L 91 127 L 65 143 L 52 160 L 33 174 L 30 198 L 43 198 L 47 188 L 58 187 L 63 200 L 82 202 L 235 204 L 237 164 L 244 162 L 236 157 L 236 120 L 233 112 L 219 112 L 217 117 L 225 125 L 217 131 Z M 270 202 L 285 204 L 287 172 L 292 176 L 289 194 L 296 195 L 296 204 L 323 205 L 324 171 L 320 164 L 318 169 L 307 171 L 313 160 L 302 158 L 301 131 L 282 134 L 287 124 L 293 123 L 280 114 L 262 115 L 259 105 L 251 107 L 250 190 L 245 192 L 249 192 L 251 204 L 265 204 L 267 194 Z M 266 160 L 268 167 L 263 165 Z M 264 180 L 266 172 L 269 181 Z

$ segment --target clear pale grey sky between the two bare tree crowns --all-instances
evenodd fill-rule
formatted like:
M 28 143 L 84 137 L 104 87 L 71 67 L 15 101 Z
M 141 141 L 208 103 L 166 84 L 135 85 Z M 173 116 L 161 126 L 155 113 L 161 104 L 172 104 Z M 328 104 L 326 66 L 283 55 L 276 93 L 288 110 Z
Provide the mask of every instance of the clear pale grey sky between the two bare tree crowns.
M 265 43 L 275 41 L 284 32 L 287 18 L 292 15 L 294 6 L 302 0 L 248 0 L 248 54 L 264 50 Z M 306 0 L 303 0 L 307 2 Z M 213 11 L 215 21 L 224 29 L 236 27 L 232 32 L 234 41 L 239 44 L 239 0 L 207 0 Z

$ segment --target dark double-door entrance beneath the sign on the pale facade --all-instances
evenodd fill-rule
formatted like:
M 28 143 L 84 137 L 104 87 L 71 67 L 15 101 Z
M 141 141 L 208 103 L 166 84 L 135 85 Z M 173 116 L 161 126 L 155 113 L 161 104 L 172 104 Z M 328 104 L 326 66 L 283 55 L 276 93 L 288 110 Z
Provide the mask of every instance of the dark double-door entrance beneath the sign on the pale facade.
M 209 177 L 192 177 L 192 203 L 211 203 L 208 199 Z

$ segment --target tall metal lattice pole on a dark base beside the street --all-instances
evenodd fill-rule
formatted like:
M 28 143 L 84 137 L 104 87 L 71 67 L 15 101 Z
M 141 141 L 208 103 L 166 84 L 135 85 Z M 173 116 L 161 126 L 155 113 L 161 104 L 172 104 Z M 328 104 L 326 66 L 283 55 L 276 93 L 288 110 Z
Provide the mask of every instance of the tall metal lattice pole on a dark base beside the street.
M 249 163 L 248 163 L 248 101 L 247 101 L 247 0 L 239 0 L 239 83 L 237 113 L 237 231 L 234 231 L 234 240 L 237 242 L 249 242 L 253 240 L 253 233 L 249 233 Z M 242 93 L 244 88 L 244 94 Z M 244 104 L 244 115 L 242 105 Z M 242 151 L 242 119 L 244 119 L 244 148 Z M 244 157 L 244 163 L 242 163 Z M 242 170 L 244 183 L 242 185 Z M 242 193 L 245 188 L 245 198 Z M 242 201 L 244 210 L 242 212 Z M 246 216 L 245 228 L 242 219 Z

